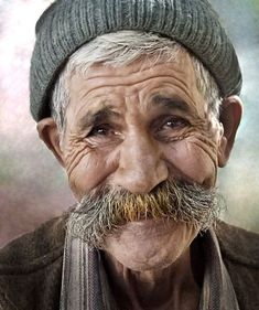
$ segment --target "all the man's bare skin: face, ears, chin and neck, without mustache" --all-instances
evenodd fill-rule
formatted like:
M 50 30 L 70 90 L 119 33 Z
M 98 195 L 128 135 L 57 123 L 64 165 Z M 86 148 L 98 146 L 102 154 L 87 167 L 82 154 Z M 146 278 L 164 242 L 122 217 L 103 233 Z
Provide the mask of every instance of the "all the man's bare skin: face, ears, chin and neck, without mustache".
M 105 184 L 149 193 L 168 178 L 215 185 L 217 167 L 231 149 L 240 105 L 235 98 L 226 100 L 231 117 L 224 119 L 233 121 L 224 133 L 197 90 L 186 54 L 174 63 L 151 64 L 96 65 L 84 78 L 74 75 L 62 148 L 53 120 L 39 125 L 77 199 L 98 193 Z M 122 299 L 118 303 L 127 300 L 129 309 L 196 309 L 199 286 L 190 245 L 197 233 L 190 224 L 149 220 L 109 236 L 106 261 L 111 290 Z

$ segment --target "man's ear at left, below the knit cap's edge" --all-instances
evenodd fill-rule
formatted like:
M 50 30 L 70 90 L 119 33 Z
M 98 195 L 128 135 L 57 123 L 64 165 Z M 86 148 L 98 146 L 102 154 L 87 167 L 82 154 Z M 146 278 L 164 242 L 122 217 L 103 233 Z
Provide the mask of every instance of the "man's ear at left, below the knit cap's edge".
M 60 145 L 61 137 L 54 119 L 52 117 L 43 118 L 37 122 L 36 129 L 39 137 L 54 153 L 62 167 L 64 167 L 63 152 Z

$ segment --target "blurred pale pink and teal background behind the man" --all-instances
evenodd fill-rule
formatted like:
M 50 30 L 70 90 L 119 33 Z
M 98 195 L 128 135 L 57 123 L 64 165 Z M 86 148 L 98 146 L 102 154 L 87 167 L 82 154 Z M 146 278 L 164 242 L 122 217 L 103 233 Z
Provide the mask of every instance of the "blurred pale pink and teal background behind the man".
M 74 203 L 66 175 L 29 114 L 34 24 L 53 1 L 0 0 L 0 247 Z M 218 186 L 222 217 L 259 232 L 259 0 L 213 0 L 239 56 L 244 119 Z

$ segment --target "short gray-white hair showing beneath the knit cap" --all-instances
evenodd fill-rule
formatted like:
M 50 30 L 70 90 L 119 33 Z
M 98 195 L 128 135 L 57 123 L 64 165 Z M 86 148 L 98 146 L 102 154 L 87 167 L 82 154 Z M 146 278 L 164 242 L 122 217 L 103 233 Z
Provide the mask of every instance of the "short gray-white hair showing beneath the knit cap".
M 78 49 L 60 74 L 52 94 L 52 117 L 60 131 L 63 129 L 66 107 L 69 104 L 69 82 L 75 73 L 86 76 L 94 64 L 119 67 L 143 58 L 152 63 L 172 62 L 180 53 L 187 53 L 196 75 L 197 89 L 208 105 L 208 111 L 218 118 L 222 103 L 218 86 L 203 63 L 184 46 L 168 38 L 140 31 L 118 31 L 97 36 Z

